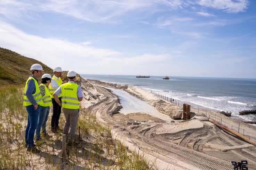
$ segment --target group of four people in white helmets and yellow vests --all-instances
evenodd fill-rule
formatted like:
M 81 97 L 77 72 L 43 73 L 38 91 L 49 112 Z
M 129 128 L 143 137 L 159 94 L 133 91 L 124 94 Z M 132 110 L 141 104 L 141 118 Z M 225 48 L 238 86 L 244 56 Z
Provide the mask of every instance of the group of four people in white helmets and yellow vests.
M 63 134 L 68 134 L 68 144 L 74 144 L 74 135 L 79 118 L 79 102 L 83 99 L 81 87 L 74 83 L 76 74 L 70 70 L 67 73 L 69 82 L 65 83 L 62 76 L 62 68 L 55 67 L 54 75 L 42 75 L 43 68 L 40 64 L 33 64 L 30 68 L 32 75 L 27 79 L 24 88 L 23 105 L 28 112 L 27 126 L 25 130 L 25 146 L 27 151 L 39 153 L 34 144 L 34 133 L 36 140 L 41 140 L 42 136 L 50 138 L 46 132 L 46 122 L 48 120 L 50 106 L 53 105 L 51 117 L 51 131 L 58 133 L 59 117 L 63 107 L 65 125 Z M 38 85 L 38 78 L 42 76 L 41 84 Z

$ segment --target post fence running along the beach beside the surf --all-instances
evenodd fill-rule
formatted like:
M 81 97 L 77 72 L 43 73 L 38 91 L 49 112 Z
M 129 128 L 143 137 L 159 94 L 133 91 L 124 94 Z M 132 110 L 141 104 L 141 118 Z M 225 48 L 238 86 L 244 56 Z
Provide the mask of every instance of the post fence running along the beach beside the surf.
M 159 94 L 157 92 L 154 92 L 152 90 L 145 90 L 147 92 L 150 92 L 152 94 L 154 94 L 155 96 L 157 97 L 160 97 L 161 99 L 164 99 L 164 100 L 167 100 L 168 102 L 170 102 L 171 104 L 173 105 L 177 105 L 177 106 L 180 106 L 181 108 L 183 108 L 183 103 L 181 103 L 179 105 L 179 102 L 177 102 L 175 99 L 173 99 L 172 97 L 168 97 L 168 96 L 165 96 L 165 95 L 162 95 L 162 94 Z M 196 109 L 196 108 L 194 108 Z M 240 125 L 240 122 L 238 124 L 236 124 L 235 122 L 229 122 L 228 120 L 224 121 L 222 120 L 222 118 L 220 116 L 217 116 L 216 117 L 216 113 L 212 113 L 211 111 L 207 113 L 207 110 L 203 110 L 203 109 L 200 109 L 199 110 L 199 107 L 197 108 L 198 110 L 198 113 L 202 113 L 204 114 L 207 118 L 211 118 L 217 122 L 219 122 L 220 124 L 223 124 L 224 126 L 234 130 L 234 131 L 237 131 L 239 134 L 242 134 L 242 135 L 245 135 L 246 133 L 249 134 L 250 132 L 249 131 L 246 131 L 247 127 L 245 126 L 242 126 Z M 204 112 L 205 111 L 205 112 Z M 221 114 L 221 113 L 219 113 Z M 226 125 L 225 125 L 226 124 Z

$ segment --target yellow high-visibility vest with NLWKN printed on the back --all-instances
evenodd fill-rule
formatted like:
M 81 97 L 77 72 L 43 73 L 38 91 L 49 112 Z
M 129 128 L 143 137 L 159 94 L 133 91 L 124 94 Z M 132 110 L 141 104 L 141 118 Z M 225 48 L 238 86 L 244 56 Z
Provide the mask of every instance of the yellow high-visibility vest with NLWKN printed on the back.
M 77 96 L 78 84 L 65 83 L 61 85 L 61 103 L 66 109 L 79 109 L 79 101 Z

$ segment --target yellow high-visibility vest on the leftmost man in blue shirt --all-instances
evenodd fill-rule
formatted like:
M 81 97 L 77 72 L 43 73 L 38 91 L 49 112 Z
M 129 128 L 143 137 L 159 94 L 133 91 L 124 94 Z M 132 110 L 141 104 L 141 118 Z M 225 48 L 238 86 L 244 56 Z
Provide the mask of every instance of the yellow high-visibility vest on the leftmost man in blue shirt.
M 43 100 L 42 100 L 42 95 L 40 93 L 39 85 L 37 83 L 37 80 L 35 80 L 33 77 L 29 77 L 27 79 L 27 82 L 29 82 L 30 79 L 33 79 L 34 82 L 35 82 L 35 93 L 32 94 L 32 96 L 34 97 L 37 104 L 41 105 L 43 103 Z M 24 106 L 32 105 L 32 103 L 29 101 L 29 99 L 27 99 L 27 96 L 26 96 L 27 82 L 26 82 L 26 85 L 25 85 L 25 88 L 24 88 L 24 93 L 23 93 L 23 105 Z

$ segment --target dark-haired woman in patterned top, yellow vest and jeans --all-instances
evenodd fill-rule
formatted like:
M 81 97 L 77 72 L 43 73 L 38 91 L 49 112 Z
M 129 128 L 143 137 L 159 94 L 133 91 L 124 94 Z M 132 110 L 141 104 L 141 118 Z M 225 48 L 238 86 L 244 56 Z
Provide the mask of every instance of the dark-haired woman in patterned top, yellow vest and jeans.
M 50 91 L 49 91 L 49 84 L 51 83 L 51 75 L 44 74 L 42 76 L 41 84 L 39 85 L 39 90 L 42 95 L 43 103 L 39 106 L 39 118 L 38 118 L 38 125 L 37 129 L 35 130 L 36 140 L 41 140 L 40 132 L 42 128 L 42 135 L 43 137 L 50 138 L 51 136 L 46 133 L 46 121 L 48 120 L 49 112 L 50 112 L 50 105 L 52 103 Z

